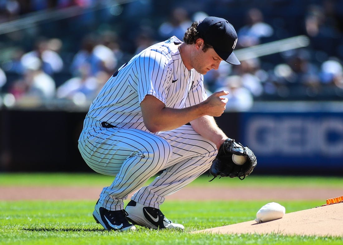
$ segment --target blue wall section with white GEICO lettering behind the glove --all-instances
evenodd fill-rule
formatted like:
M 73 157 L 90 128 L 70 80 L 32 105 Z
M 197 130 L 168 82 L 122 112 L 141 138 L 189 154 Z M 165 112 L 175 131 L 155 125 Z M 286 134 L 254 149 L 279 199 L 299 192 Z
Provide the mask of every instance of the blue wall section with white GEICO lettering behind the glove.
M 241 139 L 263 173 L 343 173 L 343 113 L 244 113 Z

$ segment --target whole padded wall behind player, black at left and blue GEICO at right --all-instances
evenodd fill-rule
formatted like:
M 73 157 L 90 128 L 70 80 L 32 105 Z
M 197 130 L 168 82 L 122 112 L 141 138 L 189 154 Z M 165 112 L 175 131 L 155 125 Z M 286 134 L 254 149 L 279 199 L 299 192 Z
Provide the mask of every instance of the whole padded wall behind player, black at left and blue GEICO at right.
M 90 171 L 77 140 L 85 112 L 0 111 L 1 171 Z M 226 134 L 248 144 L 256 174 L 343 174 L 343 106 L 257 104 L 216 118 Z

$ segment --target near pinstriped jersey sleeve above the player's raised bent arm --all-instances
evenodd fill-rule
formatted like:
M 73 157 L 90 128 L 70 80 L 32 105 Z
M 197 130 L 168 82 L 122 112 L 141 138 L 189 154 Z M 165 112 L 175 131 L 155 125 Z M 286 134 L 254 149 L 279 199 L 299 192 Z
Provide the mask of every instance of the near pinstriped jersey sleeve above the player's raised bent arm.
M 167 57 L 158 51 L 147 50 L 136 61 L 137 93 L 141 103 L 146 95 L 153 95 L 166 103 L 166 84 L 170 79 Z

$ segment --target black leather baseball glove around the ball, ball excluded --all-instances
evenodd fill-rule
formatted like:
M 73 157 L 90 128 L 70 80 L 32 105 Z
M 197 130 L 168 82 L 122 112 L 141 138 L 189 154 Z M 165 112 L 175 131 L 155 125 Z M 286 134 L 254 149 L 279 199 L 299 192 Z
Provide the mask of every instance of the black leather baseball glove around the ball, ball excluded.
M 245 156 L 246 162 L 243 165 L 235 164 L 232 161 L 233 154 Z M 220 176 L 230 178 L 238 177 L 243 180 L 245 176 L 251 174 L 256 165 L 256 156 L 248 146 L 244 147 L 242 144 L 235 142 L 234 139 L 228 138 L 220 146 L 218 154 L 212 161 L 210 174 L 214 176 L 213 179 Z

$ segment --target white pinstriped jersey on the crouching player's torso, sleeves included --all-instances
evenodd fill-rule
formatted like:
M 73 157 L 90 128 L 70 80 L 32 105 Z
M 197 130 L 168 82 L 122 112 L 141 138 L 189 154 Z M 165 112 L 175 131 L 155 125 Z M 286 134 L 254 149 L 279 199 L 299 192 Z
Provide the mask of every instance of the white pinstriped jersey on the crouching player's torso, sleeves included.
M 178 109 L 204 101 L 207 95 L 203 75 L 194 69 L 187 70 L 178 50 L 180 43 L 173 36 L 146 48 L 121 66 L 100 90 L 86 118 L 149 131 L 140 108 L 146 95 Z

